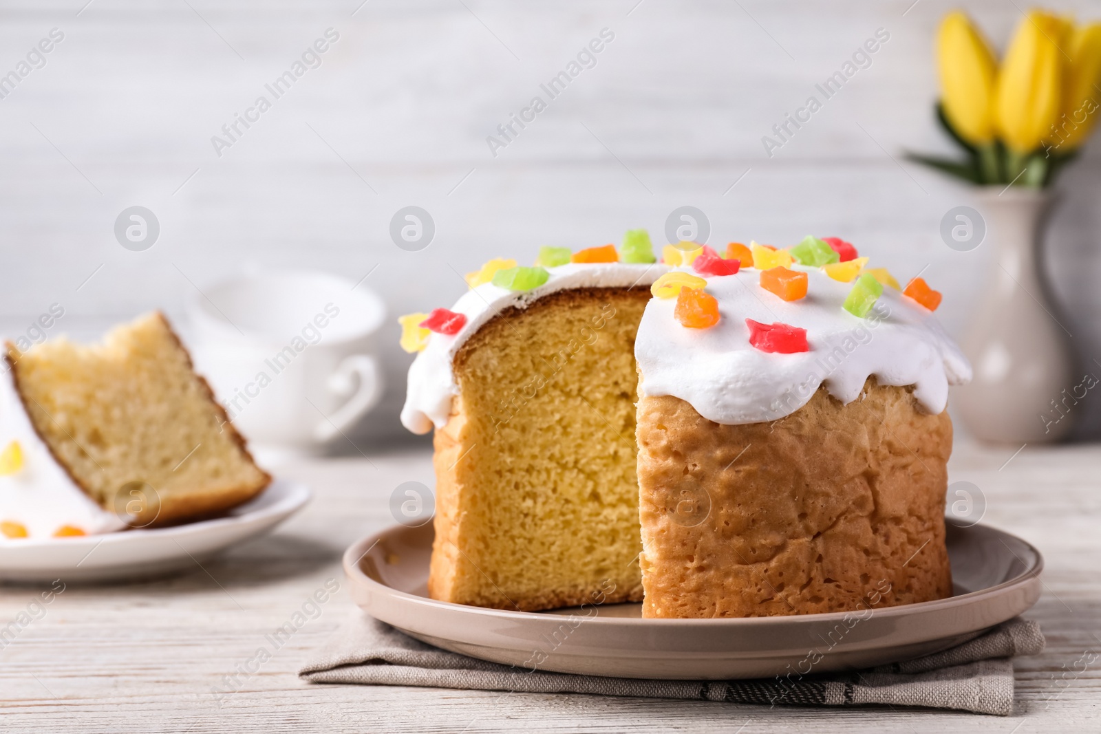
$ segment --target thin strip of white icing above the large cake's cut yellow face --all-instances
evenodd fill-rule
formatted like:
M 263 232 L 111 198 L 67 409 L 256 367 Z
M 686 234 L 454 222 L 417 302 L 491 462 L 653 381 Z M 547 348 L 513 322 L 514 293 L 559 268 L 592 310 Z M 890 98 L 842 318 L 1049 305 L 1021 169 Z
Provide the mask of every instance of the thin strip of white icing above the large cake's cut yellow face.
M 510 306 L 526 308 L 533 300 L 565 288 L 645 287 L 669 271 L 667 265 L 626 263 L 574 264 L 549 267 L 550 277 L 537 288 L 514 292 L 483 283 L 465 293 L 450 308 L 465 314 L 467 322 L 454 335 L 433 333 L 428 346 L 410 366 L 402 425 L 414 434 L 427 434 L 433 425 L 443 428 L 451 412 L 451 398 L 459 394 L 451 361 L 467 339 L 491 318 Z

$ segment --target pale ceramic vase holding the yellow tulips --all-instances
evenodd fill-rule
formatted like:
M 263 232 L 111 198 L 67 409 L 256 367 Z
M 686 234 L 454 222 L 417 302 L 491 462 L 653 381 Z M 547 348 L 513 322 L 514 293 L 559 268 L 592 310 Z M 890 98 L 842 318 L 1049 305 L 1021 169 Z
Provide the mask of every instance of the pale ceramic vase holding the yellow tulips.
M 1081 409 L 1075 394 L 1084 394 L 1070 324 L 1055 307 L 1043 273 L 1040 244 L 1055 196 L 999 186 L 979 189 L 977 198 L 986 223 L 984 247 L 994 259 L 962 342 L 974 379 L 955 391 L 953 405 L 982 440 L 1055 441 Z

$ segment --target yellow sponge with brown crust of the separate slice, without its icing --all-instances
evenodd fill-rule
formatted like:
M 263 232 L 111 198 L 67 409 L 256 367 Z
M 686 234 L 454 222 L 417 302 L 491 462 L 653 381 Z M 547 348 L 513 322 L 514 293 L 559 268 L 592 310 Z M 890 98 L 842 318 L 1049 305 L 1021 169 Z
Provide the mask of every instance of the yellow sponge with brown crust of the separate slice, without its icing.
M 53 458 L 132 527 L 216 515 L 271 481 L 161 314 L 95 346 L 61 338 L 21 352 L 9 342 L 7 359 Z

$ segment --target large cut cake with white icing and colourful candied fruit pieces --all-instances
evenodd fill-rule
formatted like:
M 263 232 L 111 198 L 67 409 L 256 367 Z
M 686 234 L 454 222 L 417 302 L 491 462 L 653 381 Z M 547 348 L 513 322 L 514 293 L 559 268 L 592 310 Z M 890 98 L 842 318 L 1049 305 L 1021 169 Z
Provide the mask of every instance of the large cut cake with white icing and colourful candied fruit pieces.
M 435 428 L 434 599 L 648 617 L 951 594 L 948 385 L 970 368 L 851 244 L 682 242 L 495 260 L 402 317 L 402 412 Z M 862 606 L 863 605 L 863 606 Z

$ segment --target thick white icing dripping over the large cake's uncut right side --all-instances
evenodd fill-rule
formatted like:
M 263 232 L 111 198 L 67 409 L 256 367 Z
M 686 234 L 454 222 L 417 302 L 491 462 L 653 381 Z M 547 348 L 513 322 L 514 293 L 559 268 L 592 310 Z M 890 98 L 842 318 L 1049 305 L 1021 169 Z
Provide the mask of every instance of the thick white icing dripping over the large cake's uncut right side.
M 914 396 L 940 413 L 948 385 L 971 379 L 971 366 L 936 318 L 891 287 L 875 311 L 858 318 L 841 307 L 852 288 L 816 267 L 807 296 L 785 302 L 760 286 L 761 273 L 708 277 L 719 322 L 688 329 L 674 318 L 676 299 L 653 298 L 639 327 L 634 353 L 639 395 L 674 395 L 720 424 L 775 420 L 803 407 L 825 382 L 842 403 L 855 399 L 870 375 L 883 385 L 915 385 Z M 808 352 L 777 354 L 749 343 L 745 319 L 807 330 Z

